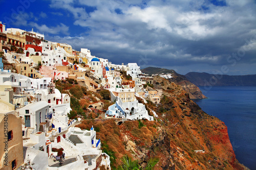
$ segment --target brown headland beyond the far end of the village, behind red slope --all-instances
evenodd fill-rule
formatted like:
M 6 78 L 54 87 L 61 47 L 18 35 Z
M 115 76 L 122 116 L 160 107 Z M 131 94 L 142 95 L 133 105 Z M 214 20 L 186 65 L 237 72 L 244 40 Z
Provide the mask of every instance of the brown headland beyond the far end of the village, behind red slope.
M 173 69 L 165 69 L 165 68 L 156 68 L 156 67 L 147 67 L 141 70 L 145 74 L 152 75 L 152 74 L 172 74 L 173 78 L 169 79 L 170 82 L 175 82 L 176 84 L 180 85 L 185 91 L 188 92 L 190 99 L 205 99 L 206 96 L 202 93 L 202 91 L 197 87 L 195 84 L 188 81 L 188 79 L 178 74 Z

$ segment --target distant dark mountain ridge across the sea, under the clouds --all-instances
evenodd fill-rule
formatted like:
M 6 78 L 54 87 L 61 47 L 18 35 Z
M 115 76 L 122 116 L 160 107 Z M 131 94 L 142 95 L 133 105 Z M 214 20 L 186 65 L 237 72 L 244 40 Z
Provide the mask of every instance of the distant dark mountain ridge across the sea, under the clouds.
M 229 76 L 188 72 L 185 77 L 197 86 L 256 86 L 256 75 Z

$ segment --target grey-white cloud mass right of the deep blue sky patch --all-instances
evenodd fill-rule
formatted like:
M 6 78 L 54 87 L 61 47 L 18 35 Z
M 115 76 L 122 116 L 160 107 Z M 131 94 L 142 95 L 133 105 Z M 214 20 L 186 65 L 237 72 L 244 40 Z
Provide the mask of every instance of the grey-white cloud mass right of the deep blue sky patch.
M 113 63 L 179 70 L 183 66 L 181 72 L 200 65 L 199 71 L 207 71 L 233 64 L 235 53 L 240 64 L 233 71 L 255 74 L 251 67 L 256 54 L 253 1 L 80 1 L 74 5 L 71 0 L 54 0 L 51 7 L 73 14 L 77 29 L 90 29 L 80 37 L 52 40 L 68 42 L 77 50 L 89 48 L 92 55 Z M 90 13 L 86 12 L 89 7 L 94 9 Z

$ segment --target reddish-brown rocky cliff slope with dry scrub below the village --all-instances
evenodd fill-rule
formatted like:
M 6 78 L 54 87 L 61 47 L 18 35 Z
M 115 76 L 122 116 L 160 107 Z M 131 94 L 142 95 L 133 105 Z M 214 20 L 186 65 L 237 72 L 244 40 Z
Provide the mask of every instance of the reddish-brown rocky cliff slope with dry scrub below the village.
M 203 112 L 174 82 L 155 79 L 161 84 L 155 86 L 163 93 L 161 104 L 145 104 L 150 114 L 152 110 L 157 113 L 154 122 L 112 118 L 84 120 L 78 125 L 95 127 L 103 151 L 111 155 L 113 169 L 123 155 L 139 160 L 142 166 L 150 157 L 159 157 L 156 169 L 247 169 L 237 161 L 220 119 Z

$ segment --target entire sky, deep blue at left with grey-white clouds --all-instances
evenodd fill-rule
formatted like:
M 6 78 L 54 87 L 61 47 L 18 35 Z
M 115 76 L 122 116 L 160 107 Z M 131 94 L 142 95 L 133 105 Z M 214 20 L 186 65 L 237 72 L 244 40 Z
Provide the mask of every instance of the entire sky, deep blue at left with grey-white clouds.
M 114 64 L 256 74 L 255 0 L 0 0 L 0 11 L 7 28 Z

